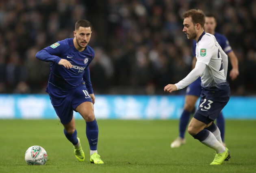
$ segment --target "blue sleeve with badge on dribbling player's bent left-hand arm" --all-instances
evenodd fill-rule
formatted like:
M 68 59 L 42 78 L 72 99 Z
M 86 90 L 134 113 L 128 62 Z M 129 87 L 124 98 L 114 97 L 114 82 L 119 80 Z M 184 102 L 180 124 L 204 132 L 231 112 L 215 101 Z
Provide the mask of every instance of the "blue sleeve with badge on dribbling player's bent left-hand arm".
M 60 56 L 63 49 L 65 50 L 65 42 L 58 41 L 57 43 L 54 43 L 37 52 L 36 58 L 45 62 L 55 62 L 58 64 L 61 60 Z

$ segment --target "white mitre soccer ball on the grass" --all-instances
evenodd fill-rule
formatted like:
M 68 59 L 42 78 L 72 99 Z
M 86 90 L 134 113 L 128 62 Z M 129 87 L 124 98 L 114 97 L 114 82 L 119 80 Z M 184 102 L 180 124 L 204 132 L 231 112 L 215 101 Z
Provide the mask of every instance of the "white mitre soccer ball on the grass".
M 47 161 L 47 153 L 43 147 L 34 145 L 29 147 L 25 153 L 25 161 L 28 165 L 44 165 Z

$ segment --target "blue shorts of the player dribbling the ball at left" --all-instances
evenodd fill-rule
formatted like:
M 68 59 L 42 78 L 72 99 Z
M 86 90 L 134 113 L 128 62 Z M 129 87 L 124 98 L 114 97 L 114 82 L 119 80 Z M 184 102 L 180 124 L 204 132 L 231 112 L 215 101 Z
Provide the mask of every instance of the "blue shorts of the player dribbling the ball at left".
M 70 93 L 65 97 L 56 98 L 56 96 L 50 96 L 50 99 L 61 124 L 67 124 L 72 120 L 73 111 L 75 111 L 76 107 L 81 103 L 92 103 L 85 85 L 79 85 L 76 89 L 70 91 Z

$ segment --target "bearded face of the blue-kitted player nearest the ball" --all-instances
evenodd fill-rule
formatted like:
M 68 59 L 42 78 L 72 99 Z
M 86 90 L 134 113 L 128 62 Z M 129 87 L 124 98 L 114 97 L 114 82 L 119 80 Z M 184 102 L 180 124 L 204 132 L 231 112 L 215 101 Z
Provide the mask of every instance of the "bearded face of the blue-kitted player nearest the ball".
M 76 37 L 76 43 L 81 49 L 85 48 L 91 38 L 91 28 L 79 27 L 78 30 L 74 31 L 74 36 Z

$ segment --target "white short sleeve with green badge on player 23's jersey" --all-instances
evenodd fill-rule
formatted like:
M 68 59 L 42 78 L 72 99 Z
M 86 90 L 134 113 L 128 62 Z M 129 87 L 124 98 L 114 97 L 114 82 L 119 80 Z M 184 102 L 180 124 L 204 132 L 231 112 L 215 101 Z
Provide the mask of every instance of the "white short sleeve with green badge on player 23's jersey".
M 210 58 L 213 56 L 213 47 L 215 46 L 214 41 L 208 41 L 207 44 L 198 45 L 197 51 L 197 62 L 204 63 L 206 65 L 209 64 Z

